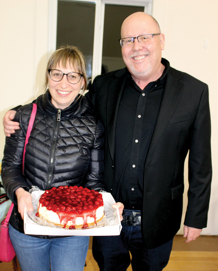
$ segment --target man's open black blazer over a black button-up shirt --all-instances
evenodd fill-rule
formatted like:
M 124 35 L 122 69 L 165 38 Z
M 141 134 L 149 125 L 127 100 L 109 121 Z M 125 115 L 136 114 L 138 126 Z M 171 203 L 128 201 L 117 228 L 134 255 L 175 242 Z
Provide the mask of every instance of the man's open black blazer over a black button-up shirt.
M 106 131 L 104 184 L 112 195 L 116 115 L 125 81 L 125 69 L 97 76 L 87 94 Z M 206 227 L 212 176 L 210 137 L 208 86 L 170 67 L 145 157 L 141 219 L 147 248 L 171 240 L 180 228 L 188 151 L 189 190 L 184 224 Z

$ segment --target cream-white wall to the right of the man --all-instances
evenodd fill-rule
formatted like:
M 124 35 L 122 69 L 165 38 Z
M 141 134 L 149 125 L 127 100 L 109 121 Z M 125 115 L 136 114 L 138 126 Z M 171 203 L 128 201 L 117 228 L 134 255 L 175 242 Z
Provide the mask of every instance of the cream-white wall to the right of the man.
M 218 1 L 153 0 L 153 16 L 165 34 L 163 57 L 170 65 L 209 85 L 213 178 L 208 227 L 202 234 L 218 234 Z M 187 206 L 187 161 L 182 224 Z M 181 224 L 180 234 L 183 233 Z

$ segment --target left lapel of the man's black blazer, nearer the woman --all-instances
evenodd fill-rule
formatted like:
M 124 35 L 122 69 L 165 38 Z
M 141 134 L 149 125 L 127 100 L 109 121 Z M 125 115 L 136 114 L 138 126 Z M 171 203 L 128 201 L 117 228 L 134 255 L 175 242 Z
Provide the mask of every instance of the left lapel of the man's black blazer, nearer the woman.
M 116 116 L 126 82 L 125 69 L 119 70 L 115 76 L 116 78 L 108 85 L 109 91 L 106 105 L 107 142 L 113 160 L 115 155 Z

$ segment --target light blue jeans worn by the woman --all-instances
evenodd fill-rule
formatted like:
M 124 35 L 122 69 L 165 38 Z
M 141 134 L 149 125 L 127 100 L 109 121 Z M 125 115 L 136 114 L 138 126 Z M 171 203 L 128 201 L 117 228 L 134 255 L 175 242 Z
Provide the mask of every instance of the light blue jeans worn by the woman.
M 15 230 L 9 235 L 22 271 L 82 271 L 89 236 L 41 239 Z

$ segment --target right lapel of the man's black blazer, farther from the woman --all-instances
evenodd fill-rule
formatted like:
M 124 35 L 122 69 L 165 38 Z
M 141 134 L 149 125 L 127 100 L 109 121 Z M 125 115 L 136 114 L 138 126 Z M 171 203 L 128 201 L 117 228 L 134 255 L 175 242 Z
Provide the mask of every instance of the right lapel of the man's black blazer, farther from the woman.
M 161 102 L 159 114 L 154 128 L 154 133 L 149 146 L 149 151 L 154 147 L 159 137 L 163 133 L 165 127 L 167 126 L 169 119 L 171 118 L 173 111 L 176 108 L 179 97 L 182 93 L 183 85 L 184 84 L 180 82 L 178 78 L 173 77 L 171 75 L 171 72 L 169 71 L 163 99 Z

